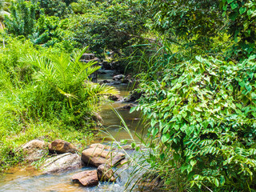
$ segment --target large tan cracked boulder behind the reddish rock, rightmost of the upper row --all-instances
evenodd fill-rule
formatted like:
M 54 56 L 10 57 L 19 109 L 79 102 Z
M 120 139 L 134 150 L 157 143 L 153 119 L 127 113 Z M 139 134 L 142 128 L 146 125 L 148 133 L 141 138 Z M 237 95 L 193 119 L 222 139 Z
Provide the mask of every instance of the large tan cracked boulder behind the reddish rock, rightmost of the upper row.
M 89 148 L 82 151 L 82 162 L 92 166 L 100 166 L 102 164 L 115 166 L 123 158 L 125 158 L 125 154 L 112 152 L 99 147 Z

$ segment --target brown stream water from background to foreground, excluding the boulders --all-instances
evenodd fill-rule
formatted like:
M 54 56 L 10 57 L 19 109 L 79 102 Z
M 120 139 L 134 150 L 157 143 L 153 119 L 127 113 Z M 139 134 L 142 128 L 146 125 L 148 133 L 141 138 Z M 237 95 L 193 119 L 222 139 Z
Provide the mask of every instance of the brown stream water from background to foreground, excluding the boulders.
M 120 96 L 126 97 L 132 86 L 128 84 L 114 84 L 112 76 L 114 70 L 104 70 L 104 74 L 100 74 L 98 77 L 98 82 L 102 80 L 109 80 L 108 85 L 115 86 L 120 90 Z M 142 130 L 142 125 L 140 121 L 139 112 L 133 114 L 129 113 L 129 110 L 122 110 L 122 106 L 127 103 L 123 102 L 110 102 L 114 109 L 122 115 L 125 120 L 126 125 L 129 127 L 130 132 L 134 137 L 134 132 L 137 133 Z M 102 106 L 101 116 L 103 119 L 103 126 L 107 128 L 108 132 L 113 135 L 116 141 L 121 141 L 122 139 L 130 139 L 130 135 L 119 126 L 122 126 L 121 120 L 110 108 L 110 103 L 106 103 Z M 108 137 L 108 134 L 101 134 L 101 137 Z M 133 151 L 130 150 L 128 153 L 132 154 Z M 70 177 L 83 170 L 94 170 L 94 167 L 86 166 L 78 170 L 69 170 L 64 173 L 59 174 L 41 174 L 34 167 L 20 167 L 16 166 L 8 170 L 5 174 L 0 174 L 0 192 L 7 191 L 48 191 L 48 192 L 61 192 L 61 191 L 125 191 L 125 184 L 130 176 L 130 172 L 134 169 L 129 166 L 126 170 L 118 170 L 120 172 L 120 177 L 116 182 L 99 182 L 98 186 L 94 187 L 83 187 L 80 184 L 71 181 Z M 139 176 L 137 176 L 139 178 Z M 133 190 L 138 191 L 138 190 Z

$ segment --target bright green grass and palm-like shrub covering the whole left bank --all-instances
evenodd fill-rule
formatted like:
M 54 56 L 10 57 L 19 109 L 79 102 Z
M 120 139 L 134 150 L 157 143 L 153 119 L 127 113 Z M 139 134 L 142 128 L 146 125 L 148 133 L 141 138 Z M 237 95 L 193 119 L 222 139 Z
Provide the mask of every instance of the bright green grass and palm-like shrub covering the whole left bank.
M 90 141 L 102 96 L 118 91 L 89 81 L 98 66 L 79 61 L 87 47 L 70 56 L 24 39 L 7 42 L 0 58 L 2 169 L 19 161 L 17 147 L 33 138 Z

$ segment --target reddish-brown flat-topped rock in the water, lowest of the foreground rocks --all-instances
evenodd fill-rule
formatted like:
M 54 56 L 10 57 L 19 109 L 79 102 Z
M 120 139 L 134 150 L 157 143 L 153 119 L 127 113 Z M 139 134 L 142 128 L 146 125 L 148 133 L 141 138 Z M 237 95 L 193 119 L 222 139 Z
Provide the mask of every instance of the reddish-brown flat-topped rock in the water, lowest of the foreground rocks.
M 74 174 L 71 179 L 73 182 L 81 182 L 83 186 L 97 186 L 98 185 L 98 174 L 97 170 L 86 170 L 81 173 Z

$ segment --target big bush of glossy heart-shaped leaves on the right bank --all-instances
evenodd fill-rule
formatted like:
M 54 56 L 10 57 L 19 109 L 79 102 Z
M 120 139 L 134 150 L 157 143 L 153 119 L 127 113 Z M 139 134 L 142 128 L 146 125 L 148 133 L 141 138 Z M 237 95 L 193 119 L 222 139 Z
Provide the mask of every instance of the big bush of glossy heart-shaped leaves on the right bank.
M 142 83 L 145 94 L 134 110 L 150 120 L 147 161 L 166 185 L 256 189 L 254 58 L 234 63 L 199 56 Z M 174 173 L 185 184 L 177 186 Z

